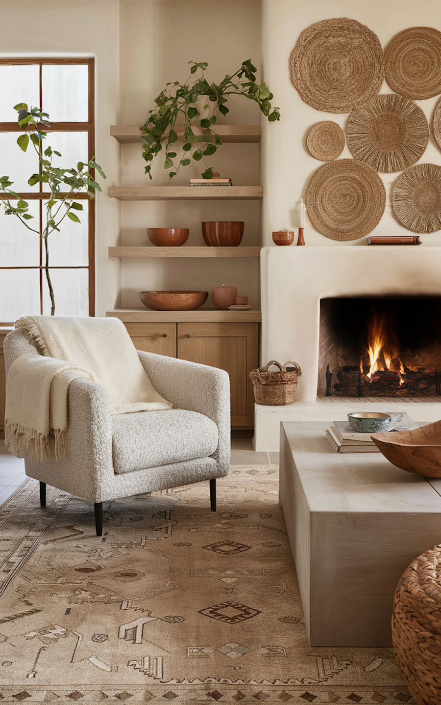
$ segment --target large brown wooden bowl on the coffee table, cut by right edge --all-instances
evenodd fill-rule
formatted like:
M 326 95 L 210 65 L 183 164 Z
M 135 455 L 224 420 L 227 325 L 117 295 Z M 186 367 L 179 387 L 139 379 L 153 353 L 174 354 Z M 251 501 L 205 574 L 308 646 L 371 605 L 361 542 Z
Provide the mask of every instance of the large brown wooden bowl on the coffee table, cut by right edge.
M 373 434 L 371 439 L 392 465 L 425 477 L 441 477 L 441 421 L 414 431 Z

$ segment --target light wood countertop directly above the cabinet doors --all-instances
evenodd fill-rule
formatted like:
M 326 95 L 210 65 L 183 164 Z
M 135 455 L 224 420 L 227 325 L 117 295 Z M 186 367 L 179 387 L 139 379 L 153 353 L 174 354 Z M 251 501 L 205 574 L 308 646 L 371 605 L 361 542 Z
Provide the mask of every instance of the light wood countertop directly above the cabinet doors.
M 196 309 L 194 311 L 153 311 L 152 309 L 115 309 L 106 316 L 119 318 L 123 323 L 260 323 L 262 313 L 248 311 L 221 311 Z

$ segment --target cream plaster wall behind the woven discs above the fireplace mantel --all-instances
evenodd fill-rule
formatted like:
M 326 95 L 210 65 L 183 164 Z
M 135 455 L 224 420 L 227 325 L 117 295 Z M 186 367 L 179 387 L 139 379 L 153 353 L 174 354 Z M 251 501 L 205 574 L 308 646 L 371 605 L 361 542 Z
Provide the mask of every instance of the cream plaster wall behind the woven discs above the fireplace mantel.
M 367 25 L 378 35 L 383 49 L 390 39 L 407 27 L 428 26 L 441 30 L 441 12 L 438 0 L 262 0 L 262 63 L 264 80 L 281 108 L 281 121 L 271 125 L 262 123 L 262 183 L 264 207 L 262 214 L 263 243 L 272 244 L 271 232 L 279 228 L 297 228 L 297 204 L 305 197 L 305 189 L 312 173 L 321 166 L 309 155 L 305 140 L 309 129 L 322 120 L 333 120 L 343 129 L 347 114 L 335 115 L 315 110 L 302 102 L 290 81 L 289 57 L 300 32 L 319 20 L 347 17 Z M 386 84 L 381 92 L 390 92 Z M 418 101 L 429 124 L 437 97 Z M 345 147 L 341 158 L 352 154 Z M 430 134 L 429 145 L 421 163 L 441 164 L 441 152 Z M 383 218 L 375 229 L 378 234 L 408 233 L 398 223 L 390 207 L 390 188 L 398 174 L 381 175 L 388 200 Z M 423 245 L 440 245 L 441 233 L 421 236 Z M 339 243 L 314 231 L 305 219 L 307 245 Z M 366 238 L 345 243 L 345 247 L 366 245 Z

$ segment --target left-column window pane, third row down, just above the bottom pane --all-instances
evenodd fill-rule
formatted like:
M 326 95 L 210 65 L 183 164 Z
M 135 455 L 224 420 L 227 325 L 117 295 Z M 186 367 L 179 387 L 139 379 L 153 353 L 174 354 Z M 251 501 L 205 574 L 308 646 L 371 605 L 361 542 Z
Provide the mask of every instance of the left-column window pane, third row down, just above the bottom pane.
M 30 228 L 39 230 L 39 201 L 28 203 L 28 213 L 34 218 L 27 223 Z M 3 206 L 0 207 L 0 238 L 0 266 L 39 266 L 39 235 L 28 230 L 16 216 L 6 216 Z

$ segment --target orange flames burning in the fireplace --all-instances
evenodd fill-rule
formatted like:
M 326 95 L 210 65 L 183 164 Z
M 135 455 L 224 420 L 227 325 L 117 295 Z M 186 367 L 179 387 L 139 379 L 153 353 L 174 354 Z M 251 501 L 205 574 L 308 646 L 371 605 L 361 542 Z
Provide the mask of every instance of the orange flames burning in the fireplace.
M 368 323 L 367 353 L 369 355 L 369 372 L 366 374 L 368 379 L 372 379 L 372 375 L 378 371 L 389 369 L 391 372 L 400 374 L 400 384 L 404 384 L 402 378 L 404 365 L 398 355 L 395 334 L 384 313 L 373 312 Z M 360 372 L 364 373 L 362 360 L 360 360 Z

